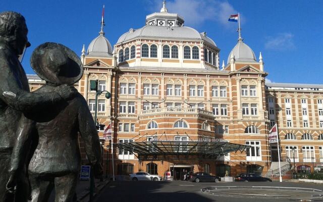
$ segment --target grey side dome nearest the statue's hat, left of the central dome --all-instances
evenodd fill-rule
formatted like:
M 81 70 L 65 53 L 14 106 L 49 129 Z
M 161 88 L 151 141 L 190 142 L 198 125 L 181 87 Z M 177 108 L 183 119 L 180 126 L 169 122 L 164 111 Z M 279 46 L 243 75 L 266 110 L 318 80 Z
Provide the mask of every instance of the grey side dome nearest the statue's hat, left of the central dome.
M 108 57 L 112 56 L 112 46 L 103 34 L 94 38 L 87 48 L 87 54 L 90 57 Z

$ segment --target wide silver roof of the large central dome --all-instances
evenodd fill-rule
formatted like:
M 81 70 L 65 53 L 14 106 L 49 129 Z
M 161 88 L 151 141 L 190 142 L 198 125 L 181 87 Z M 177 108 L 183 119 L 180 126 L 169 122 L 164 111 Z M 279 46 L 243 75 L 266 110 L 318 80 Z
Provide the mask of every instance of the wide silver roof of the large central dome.
M 124 33 L 118 39 L 118 43 L 125 42 L 137 37 L 149 37 L 149 38 L 173 38 L 173 39 L 199 39 L 204 40 L 217 47 L 212 39 L 205 36 L 203 33 L 199 33 L 191 27 L 169 27 L 169 26 L 156 26 L 146 25 L 140 29 L 130 29 L 129 32 Z

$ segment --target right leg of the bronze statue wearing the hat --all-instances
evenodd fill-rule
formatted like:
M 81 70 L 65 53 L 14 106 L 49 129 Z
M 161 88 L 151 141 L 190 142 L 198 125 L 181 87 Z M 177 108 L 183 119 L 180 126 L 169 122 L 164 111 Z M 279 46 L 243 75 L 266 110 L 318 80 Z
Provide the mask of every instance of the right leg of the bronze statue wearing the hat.
M 55 178 L 55 202 L 72 201 L 77 184 L 77 179 L 77 173 L 71 173 L 62 177 Z

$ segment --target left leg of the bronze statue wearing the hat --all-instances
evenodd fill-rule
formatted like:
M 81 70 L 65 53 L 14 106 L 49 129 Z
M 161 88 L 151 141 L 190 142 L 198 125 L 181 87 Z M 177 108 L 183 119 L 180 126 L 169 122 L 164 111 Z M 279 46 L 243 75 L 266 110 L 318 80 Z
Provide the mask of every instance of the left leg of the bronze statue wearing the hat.
M 31 201 L 43 202 L 48 201 L 54 184 L 52 178 L 45 178 L 38 174 L 29 173 L 29 181 L 31 185 Z

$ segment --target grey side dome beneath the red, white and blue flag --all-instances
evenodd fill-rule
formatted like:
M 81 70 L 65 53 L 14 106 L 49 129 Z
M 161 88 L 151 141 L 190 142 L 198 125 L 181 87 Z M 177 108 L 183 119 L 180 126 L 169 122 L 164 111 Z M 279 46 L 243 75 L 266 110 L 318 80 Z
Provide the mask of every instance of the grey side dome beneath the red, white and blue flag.
M 240 39 L 236 46 L 232 49 L 232 51 L 229 54 L 227 64 L 230 63 L 231 54 L 233 53 L 233 56 L 235 58 L 235 61 L 237 62 L 257 62 L 256 56 L 254 55 L 252 49 L 246 45 L 242 40 Z

